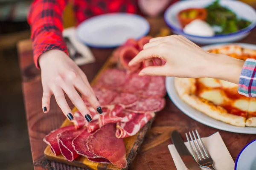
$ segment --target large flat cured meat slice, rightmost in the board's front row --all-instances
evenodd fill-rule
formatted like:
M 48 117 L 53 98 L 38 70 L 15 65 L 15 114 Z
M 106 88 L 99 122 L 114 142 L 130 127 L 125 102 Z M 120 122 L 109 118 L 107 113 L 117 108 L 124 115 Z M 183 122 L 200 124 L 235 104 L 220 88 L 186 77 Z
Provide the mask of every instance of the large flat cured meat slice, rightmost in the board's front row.
M 87 139 L 87 148 L 91 153 L 108 159 L 114 166 L 127 166 L 126 150 L 123 139 L 116 138 L 116 124 L 102 126 Z

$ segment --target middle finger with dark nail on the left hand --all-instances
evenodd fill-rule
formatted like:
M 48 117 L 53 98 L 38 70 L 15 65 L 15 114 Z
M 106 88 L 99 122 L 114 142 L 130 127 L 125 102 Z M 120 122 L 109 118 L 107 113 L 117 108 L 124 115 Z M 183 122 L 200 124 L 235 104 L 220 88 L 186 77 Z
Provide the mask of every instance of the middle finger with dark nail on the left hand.
M 65 91 L 67 96 L 70 98 L 71 102 L 76 106 L 76 108 L 81 112 L 87 122 L 92 121 L 92 115 L 90 111 L 87 109 L 84 101 L 82 100 L 81 96 L 77 93 L 76 89 L 72 84 L 62 86 L 62 89 Z

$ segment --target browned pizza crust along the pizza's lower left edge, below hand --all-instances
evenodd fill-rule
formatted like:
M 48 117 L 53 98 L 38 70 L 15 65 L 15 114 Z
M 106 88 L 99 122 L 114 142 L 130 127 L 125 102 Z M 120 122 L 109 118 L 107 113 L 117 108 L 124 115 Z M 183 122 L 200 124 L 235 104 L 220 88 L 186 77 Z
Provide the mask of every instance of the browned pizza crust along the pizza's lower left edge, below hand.
M 177 94 L 184 102 L 216 120 L 239 127 L 245 126 L 244 117 L 227 113 L 227 111 L 224 108 L 214 105 L 212 102 L 209 102 L 208 100 L 198 98 L 192 93 L 193 90 L 195 90 L 194 88 L 195 79 L 181 79 L 175 77 L 175 89 L 177 91 Z

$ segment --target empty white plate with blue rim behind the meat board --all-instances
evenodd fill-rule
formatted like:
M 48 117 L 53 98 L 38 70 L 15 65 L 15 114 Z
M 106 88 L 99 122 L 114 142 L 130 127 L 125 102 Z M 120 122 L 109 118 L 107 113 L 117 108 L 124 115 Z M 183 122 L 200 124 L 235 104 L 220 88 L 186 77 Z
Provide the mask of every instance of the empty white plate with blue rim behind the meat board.
M 110 13 L 82 22 L 76 30 L 78 39 L 88 46 L 117 47 L 128 38 L 136 40 L 148 34 L 149 23 L 136 14 Z

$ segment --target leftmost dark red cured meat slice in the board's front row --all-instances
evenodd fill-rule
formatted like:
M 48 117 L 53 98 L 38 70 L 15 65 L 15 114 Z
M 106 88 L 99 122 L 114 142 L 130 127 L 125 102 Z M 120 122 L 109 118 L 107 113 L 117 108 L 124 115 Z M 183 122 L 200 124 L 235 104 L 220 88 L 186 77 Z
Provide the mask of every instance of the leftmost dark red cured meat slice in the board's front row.
M 52 130 L 47 136 L 45 136 L 44 142 L 51 147 L 52 153 L 54 153 L 55 156 L 61 153 L 61 150 L 58 146 L 58 139 L 57 139 L 58 134 L 67 130 L 74 130 L 74 129 L 76 129 L 74 125 L 65 126 L 56 130 Z

